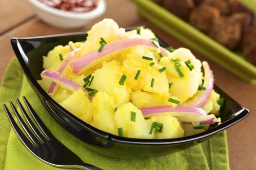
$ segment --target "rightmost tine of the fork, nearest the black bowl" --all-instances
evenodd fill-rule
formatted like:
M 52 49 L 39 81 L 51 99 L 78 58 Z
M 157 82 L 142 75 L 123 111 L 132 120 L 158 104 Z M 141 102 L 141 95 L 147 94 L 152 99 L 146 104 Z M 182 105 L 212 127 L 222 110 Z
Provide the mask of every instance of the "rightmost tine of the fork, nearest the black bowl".
M 41 129 L 41 131 L 43 132 L 43 134 L 48 138 L 48 140 L 51 140 L 49 136 L 52 136 L 51 132 L 48 130 L 48 128 L 44 125 L 44 123 L 42 122 L 42 120 L 39 118 L 39 116 L 37 115 L 37 113 L 35 112 L 35 110 L 33 109 L 33 107 L 30 105 L 30 103 L 27 101 L 27 99 L 25 98 L 25 96 L 22 96 L 22 99 L 24 100 L 30 114 L 32 115 L 32 117 L 34 118 L 34 120 L 36 121 L 36 123 L 38 124 L 39 128 Z

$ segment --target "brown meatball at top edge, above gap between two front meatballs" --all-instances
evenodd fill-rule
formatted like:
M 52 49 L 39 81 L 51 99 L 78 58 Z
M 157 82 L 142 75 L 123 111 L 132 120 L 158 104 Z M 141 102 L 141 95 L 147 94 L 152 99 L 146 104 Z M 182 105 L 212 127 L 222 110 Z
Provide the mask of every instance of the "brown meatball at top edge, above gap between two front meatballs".
M 207 4 L 217 8 L 220 12 L 220 15 L 229 15 L 230 6 L 226 0 L 205 0 L 203 4 Z

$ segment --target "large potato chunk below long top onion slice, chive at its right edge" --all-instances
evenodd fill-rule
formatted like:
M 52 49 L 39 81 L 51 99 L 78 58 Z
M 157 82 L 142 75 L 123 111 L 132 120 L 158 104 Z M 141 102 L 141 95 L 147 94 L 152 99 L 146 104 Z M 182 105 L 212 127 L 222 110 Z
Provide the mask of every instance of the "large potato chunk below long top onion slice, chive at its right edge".
M 130 101 L 130 94 L 132 92 L 126 85 L 126 81 L 124 85 L 119 85 L 123 74 L 120 64 L 116 60 L 109 63 L 104 62 L 103 67 L 97 69 L 92 74 L 94 79 L 90 87 L 113 96 L 116 105 L 120 106 Z

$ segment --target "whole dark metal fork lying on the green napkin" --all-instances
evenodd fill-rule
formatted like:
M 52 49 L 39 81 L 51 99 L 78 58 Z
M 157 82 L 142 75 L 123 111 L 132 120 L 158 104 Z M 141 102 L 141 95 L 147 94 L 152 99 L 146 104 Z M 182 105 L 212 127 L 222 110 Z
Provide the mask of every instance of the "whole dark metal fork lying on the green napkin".
M 21 118 L 19 112 L 14 106 L 13 102 L 10 101 L 10 105 L 18 118 L 22 128 L 25 133 L 29 137 L 24 135 L 21 131 L 18 124 L 15 122 L 12 117 L 10 111 L 7 106 L 3 104 L 6 115 L 15 130 L 16 134 L 19 136 L 20 141 L 23 145 L 39 160 L 49 165 L 61 168 L 83 168 L 87 170 L 102 170 L 93 165 L 84 163 L 75 153 L 70 151 L 67 147 L 65 147 L 59 140 L 52 135 L 52 133 L 47 129 L 44 123 L 39 119 L 39 116 L 36 114 L 30 103 L 23 96 L 22 97 L 32 118 L 35 120 L 36 124 L 39 128 L 33 123 L 28 114 L 26 113 L 24 107 L 21 105 L 19 99 L 16 99 L 22 114 L 24 115 L 28 126 L 32 129 L 32 131 L 28 128 L 24 120 Z

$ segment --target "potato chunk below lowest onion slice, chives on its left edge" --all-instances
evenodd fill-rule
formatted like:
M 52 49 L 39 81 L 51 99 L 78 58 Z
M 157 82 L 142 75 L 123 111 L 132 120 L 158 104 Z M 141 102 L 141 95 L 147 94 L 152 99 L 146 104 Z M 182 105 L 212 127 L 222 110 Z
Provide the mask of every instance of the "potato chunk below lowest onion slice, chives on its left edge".
M 184 136 L 184 130 L 182 124 L 178 121 L 177 118 L 169 115 L 159 115 L 151 117 L 151 122 L 158 122 L 163 124 L 163 132 L 155 134 L 155 129 L 153 133 L 157 139 L 166 139 L 166 138 L 177 138 Z

